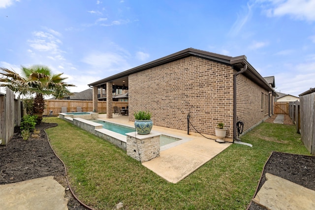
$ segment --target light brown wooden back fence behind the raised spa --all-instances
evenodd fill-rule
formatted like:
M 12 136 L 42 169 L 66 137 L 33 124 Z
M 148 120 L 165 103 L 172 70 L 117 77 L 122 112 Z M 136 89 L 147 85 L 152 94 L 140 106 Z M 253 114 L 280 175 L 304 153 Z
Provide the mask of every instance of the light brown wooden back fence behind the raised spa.
M 113 106 L 126 107 L 128 102 L 113 101 Z M 45 109 L 43 115 L 49 115 L 53 111 L 53 115 L 61 113 L 61 108 L 66 107 L 67 112 L 77 112 L 77 107 L 81 107 L 82 112 L 93 112 L 93 101 L 84 100 L 45 100 Z M 106 101 L 97 101 L 97 112 L 106 113 Z

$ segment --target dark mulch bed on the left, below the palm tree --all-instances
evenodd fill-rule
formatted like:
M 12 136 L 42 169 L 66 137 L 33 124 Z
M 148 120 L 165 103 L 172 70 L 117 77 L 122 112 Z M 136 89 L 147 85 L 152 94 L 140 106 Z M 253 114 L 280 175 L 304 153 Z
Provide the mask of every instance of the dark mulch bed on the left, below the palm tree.
M 54 176 L 63 187 L 68 188 L 63 163 L 51 149 L 44 128 L 56 124 L 41 122 L 38 138 L 23 140 L 18 127 L 7 146 L 0 147 L 0 184 L 15 183 L 41 177 Z M 70 190 L 65 191 L 69 210 L 86 210 L 74 199 Z

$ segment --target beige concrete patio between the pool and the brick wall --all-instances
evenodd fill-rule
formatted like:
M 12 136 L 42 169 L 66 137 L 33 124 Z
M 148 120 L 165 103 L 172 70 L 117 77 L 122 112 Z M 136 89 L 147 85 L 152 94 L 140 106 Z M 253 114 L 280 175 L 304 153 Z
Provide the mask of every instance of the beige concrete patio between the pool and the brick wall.
M 134 123 L 128 121 L 128 116 L 113 115 L 112 119 L 106 119 L 106 114 L 103 114 L 98 117 L 104 121 L 134 127 Z M 160 148 L 159 157 L 142 163 L 143 166 L 172 183 L 183 180 L 231 145 L 231 143 L 221 144 L 200 135 L 187 135 L 187 131 L 159 127 L 156 125 L 153 126 L 152 130 L 182 139 L 162 146 Z

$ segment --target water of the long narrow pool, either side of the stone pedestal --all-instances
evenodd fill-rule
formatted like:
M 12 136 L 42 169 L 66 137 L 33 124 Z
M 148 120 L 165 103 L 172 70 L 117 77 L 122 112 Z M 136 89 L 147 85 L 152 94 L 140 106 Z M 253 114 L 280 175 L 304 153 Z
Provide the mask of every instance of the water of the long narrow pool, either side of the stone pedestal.
M 99 124 L 103 125 L 103 128 L 107 129 L 107 130 L 111 130 L 114 131 L 116 133 L 120 133 L 123 134 L 124 136 L 126 136 L 126 133 L 131 133 L 131 132 L 135 132 L 134 128 L 132 127 L 127 127 L 124 125 L 119 125 L 119 124 L 115 124 L 115 123 L 111 123 L 111 122 L 105 122 L 102 120 L 90 120 L 93 122 L 97 122 Z M 166 136 L 166 135 L 160 135 L 159 136 L 159 144 L 160 146 L 164 146 L 176 141 L 179 141 L 181 139 L 176 138 L 176 137 L 172 137 L 172 136 Z

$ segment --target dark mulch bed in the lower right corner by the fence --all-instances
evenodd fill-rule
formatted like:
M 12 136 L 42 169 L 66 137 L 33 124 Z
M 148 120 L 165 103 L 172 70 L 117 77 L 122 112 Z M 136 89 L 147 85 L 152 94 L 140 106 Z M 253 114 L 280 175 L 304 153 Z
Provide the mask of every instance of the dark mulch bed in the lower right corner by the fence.
M 266 181 L 266 173 L 315 190 L 315 156 L 273 152 L 265 164 L 257 192 Z M 267 210 L 252 202 L 248 210 Z

